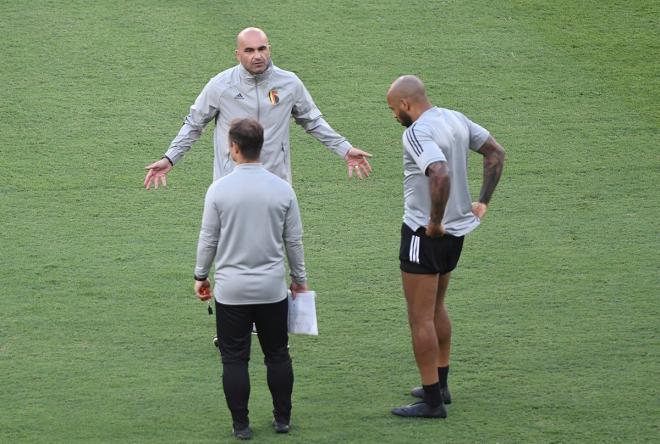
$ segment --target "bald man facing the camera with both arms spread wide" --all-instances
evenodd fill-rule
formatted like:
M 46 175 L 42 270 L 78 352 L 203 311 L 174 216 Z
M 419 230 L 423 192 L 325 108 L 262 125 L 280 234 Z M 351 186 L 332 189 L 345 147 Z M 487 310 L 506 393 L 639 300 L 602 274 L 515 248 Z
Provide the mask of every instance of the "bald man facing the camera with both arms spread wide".
M 261 29 L 247 28 L 236 38 L 239 64 L 212 78 L 190 107 L 179 134 L 165 155 L 146 166 L 146 188 L 167 185 L 167 173 L 199 139 L 214 120 L 215 159 L 213 179 L 235 167 L 229 152 L 228 131 L 236 118 L 256 119 L 264 128 L 261 161 L 264 167 L 291 183 L 289 120 L 302 126 L 332 153 L 346 161 L 348 176 L 367 177 L 371 154 L 353 147 L 325 121 L 300 79 L 273 65 L 268 36 Z

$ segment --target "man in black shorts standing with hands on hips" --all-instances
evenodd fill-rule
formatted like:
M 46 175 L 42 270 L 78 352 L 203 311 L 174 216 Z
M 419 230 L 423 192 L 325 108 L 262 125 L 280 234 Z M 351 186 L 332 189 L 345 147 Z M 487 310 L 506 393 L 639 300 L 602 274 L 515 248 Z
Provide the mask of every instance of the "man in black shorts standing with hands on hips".
M 445 295 L 458 264 L 463 238 L 477 228 L 504 166 L 504 149 L 463 114 L 431 105 L 415 76 L 396 79 L 387 104 L 403 133 L 404 215 L 399 261 L 421 401 L 392 409 L 404 417 L 446 418 L 451 322 Z M 483 156 L 479 200 L 468 190 L 469 151 Z

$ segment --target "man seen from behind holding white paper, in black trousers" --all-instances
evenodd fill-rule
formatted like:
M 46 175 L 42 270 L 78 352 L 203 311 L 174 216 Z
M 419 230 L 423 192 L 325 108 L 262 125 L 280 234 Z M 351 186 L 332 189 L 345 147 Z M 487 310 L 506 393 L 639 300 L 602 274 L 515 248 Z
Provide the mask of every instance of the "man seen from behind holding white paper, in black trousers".
M 263 128 L 254 119 L 234 120 L 230 155 L 236 168 L 208 189 L 197 246 L 195 293 L 211 298 L 208 279 L 215 259 L 216 328 L 222 383 L 233 434 L 249 439 L 248 361 L 253 323 L 265 355 L 273 397 L 273 428 L 289 431 L 293 367 L 288 351 L 285 255 L 293 297 L 307 291 L 302 222 L 296 195 L 259 161 Z

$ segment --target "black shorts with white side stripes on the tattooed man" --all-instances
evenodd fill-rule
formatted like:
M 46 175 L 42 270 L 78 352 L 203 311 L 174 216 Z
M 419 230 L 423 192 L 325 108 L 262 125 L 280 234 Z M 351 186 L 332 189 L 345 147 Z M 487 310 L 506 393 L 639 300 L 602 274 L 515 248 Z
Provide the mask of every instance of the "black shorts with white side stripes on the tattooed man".
M 419 227 L 413 232 L 404 223 L 399 248 L 401 271 L 414 274 L 449 273 L 456 268 L 461 257 L 464 237 L 445 234 L 430 238 L 426 235 L 426 227 Z

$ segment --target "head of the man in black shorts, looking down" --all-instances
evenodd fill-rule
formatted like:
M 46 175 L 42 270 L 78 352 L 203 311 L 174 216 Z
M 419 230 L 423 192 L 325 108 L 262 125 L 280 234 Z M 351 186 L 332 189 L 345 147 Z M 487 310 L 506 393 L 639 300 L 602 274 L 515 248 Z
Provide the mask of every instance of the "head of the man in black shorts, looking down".
M 431 108 L 424 83 L 415 76 L 401 76 L 387 91 L 387 106 L 403 126 L 410 126 L 422 113 Z

